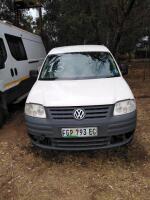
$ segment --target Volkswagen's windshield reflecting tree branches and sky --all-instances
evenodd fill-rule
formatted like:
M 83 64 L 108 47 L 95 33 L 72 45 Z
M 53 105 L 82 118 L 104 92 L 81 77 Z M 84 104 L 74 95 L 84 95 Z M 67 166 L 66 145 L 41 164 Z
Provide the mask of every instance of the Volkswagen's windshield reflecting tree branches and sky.
M 74 80 L 118 77 L 120 73 L 107 52 L 80 52 L 50 55 L 40 80 Z

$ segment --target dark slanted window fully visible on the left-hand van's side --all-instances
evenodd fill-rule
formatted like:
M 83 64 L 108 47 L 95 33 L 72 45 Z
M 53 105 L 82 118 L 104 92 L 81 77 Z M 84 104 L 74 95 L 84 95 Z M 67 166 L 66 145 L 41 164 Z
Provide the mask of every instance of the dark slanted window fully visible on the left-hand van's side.
M 27 60 L 27 54 L 21 37 L 9 34 L 5 34 L 5 37 L 12 56 L 18 61 Z

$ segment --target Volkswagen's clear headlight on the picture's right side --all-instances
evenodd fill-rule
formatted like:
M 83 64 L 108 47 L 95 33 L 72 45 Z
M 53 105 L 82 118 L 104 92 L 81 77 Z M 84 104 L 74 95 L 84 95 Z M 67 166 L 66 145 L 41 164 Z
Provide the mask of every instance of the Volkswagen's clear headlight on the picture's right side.
M 114 115 L 123 115 L 136 110 L 135 100 L 120 101 L 115 104 Z

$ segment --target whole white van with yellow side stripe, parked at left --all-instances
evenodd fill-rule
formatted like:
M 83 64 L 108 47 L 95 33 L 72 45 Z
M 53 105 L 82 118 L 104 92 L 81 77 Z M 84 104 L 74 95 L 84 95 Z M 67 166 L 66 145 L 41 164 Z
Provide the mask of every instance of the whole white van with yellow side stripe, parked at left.
M 27 96 L 46 56 L 40 36 L 0 21 L 0 126 L 7 105 Z

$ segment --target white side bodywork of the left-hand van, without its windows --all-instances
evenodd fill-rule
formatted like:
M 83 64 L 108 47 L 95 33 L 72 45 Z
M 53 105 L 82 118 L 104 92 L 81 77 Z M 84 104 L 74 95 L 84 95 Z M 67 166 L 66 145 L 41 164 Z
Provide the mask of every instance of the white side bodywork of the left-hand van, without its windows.
M 5 34 L 22 39 L 27 59 L 18 61 L 10 52 Z M 28 93 L 35 79 L 29 77 L 30 71 L 38 69 L 46 56 L 41 37 L 24 31 L 13 25 L 0 21 L 0 38 L 4 40 L 7 51 L 5 68 L 0 69 L 0 92 L 5 96 L 7 103 Z

